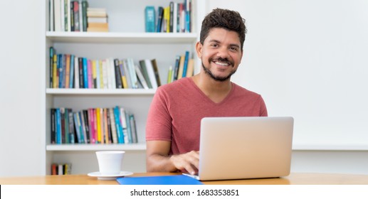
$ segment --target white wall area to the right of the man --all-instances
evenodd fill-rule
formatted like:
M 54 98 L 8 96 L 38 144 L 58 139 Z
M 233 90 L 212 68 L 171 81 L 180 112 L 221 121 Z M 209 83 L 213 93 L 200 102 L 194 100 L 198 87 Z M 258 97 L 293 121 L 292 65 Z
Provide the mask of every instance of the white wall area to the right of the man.
M 368 1 L 211 0 L 207 7 L 246 19 L 232 80 L 260 93 L 270 116 L 294 117 L 293 149 L 312 149 L 293 153 L 294 171 L 368 173 Z

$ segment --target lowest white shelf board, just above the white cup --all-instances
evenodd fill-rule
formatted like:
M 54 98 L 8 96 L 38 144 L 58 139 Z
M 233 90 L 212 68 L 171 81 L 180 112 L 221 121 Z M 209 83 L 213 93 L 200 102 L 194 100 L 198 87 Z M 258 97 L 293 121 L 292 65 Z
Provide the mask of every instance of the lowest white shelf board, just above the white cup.
M 144 151 L 146 144 L 48 144 L 46 151 Z

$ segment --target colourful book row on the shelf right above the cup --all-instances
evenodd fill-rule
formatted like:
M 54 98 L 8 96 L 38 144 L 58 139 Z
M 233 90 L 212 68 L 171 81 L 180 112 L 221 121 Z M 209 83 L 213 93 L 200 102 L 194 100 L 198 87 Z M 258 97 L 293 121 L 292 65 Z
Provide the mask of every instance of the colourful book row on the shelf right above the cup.
M 90 108 L 73 112 L 51 109 L 51 144 L 137 143 L 135 116 L 123 107 Z

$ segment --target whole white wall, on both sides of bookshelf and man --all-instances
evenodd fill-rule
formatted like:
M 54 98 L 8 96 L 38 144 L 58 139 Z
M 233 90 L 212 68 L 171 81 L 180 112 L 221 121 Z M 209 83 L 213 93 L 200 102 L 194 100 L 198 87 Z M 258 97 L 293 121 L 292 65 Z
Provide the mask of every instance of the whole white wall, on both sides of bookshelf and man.
M 368 174 L 368 1 L 207 1 L 246 18 L 245 55 L 234 81 L 263 95 L 270 115 L 295 117 L 292 171 Z M 43 173 L 41 1 L 0 1 L 0 176 Z M 20 117 L 21 116 L 21 117 Z M 358 148 L 359 148 L 358 147 Z M 367 148 L 366 148 L 367 147 Z M 328 147 L 327 147 L 328 148 Z

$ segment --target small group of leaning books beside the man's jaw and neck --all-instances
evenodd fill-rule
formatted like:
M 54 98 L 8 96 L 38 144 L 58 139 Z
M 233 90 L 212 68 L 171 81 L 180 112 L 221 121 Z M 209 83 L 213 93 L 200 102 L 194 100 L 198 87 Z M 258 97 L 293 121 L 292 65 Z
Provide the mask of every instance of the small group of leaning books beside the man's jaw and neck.
M 183 77 L 191 77 L 194 75 L 194 58 L 189 51 L 185 51 L 184 55 L 177 55 L 174 67 L 169 68 L 167 83 L 180 80 Z

